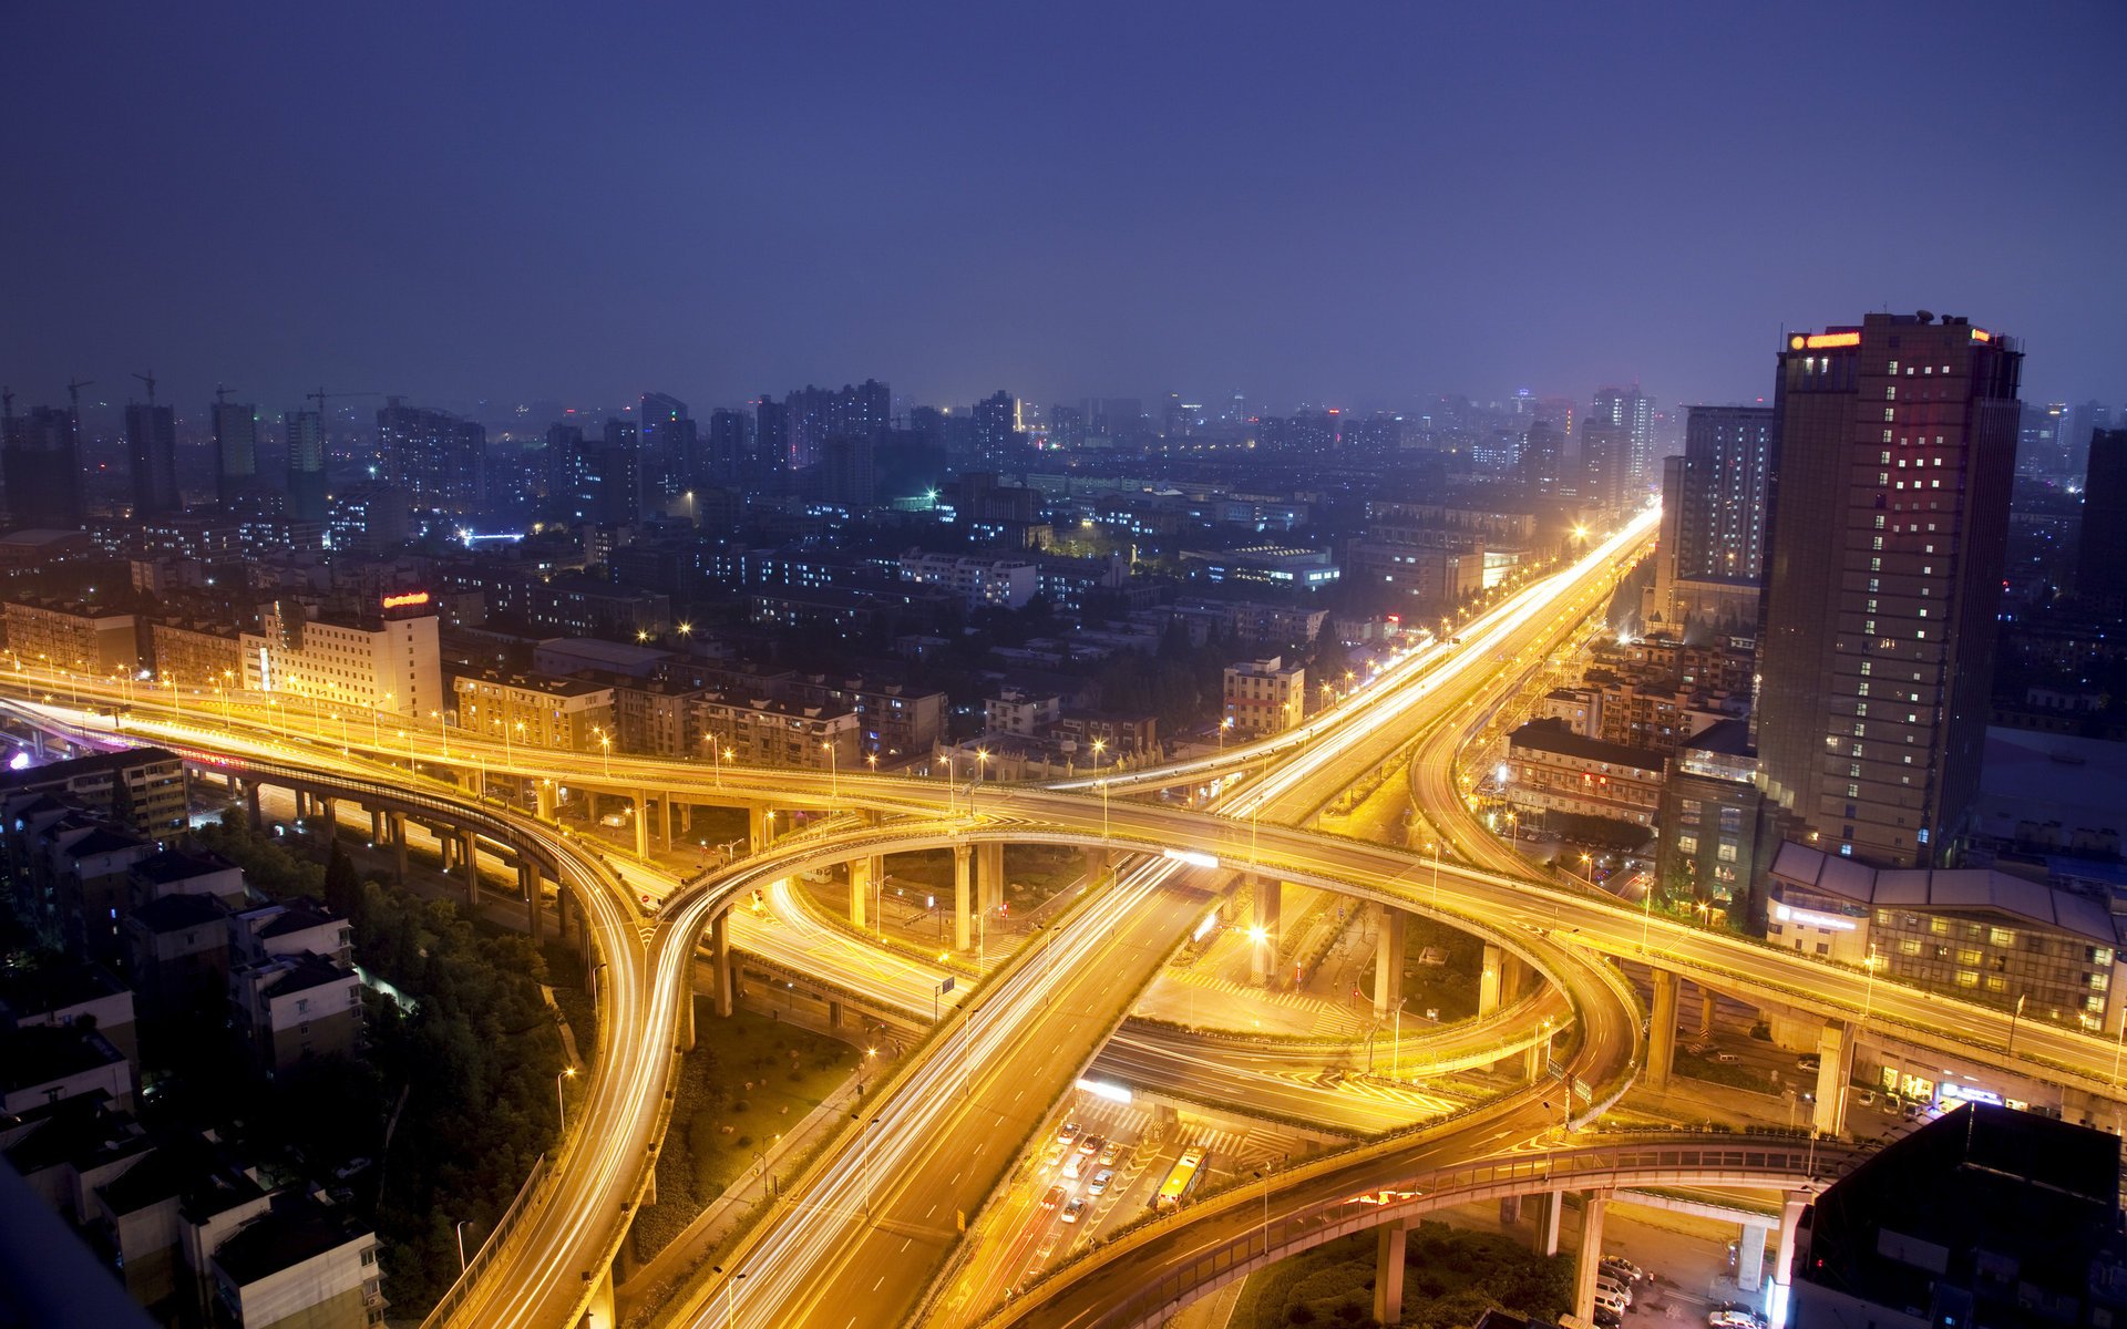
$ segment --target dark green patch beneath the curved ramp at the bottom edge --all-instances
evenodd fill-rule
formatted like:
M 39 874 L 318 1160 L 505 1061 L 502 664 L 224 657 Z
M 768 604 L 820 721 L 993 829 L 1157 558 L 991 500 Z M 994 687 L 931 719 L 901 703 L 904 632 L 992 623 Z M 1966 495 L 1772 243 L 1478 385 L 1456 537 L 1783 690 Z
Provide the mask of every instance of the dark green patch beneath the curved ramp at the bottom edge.
M 1357 1233 L 1263 1269 L 1242 1286 L 1229 1325 L 1376 1325 L 1378 1240 Z M 1404 1267 L 1402 1323 L 1412 1329 L 1474 1325 L 1493 1306 L 1540 1318 L 1557 1318 L 1572 1306 L 1570 1257 L 1542 1257 L 1497 1233 L 1421 1223 L 1410 1229 Z

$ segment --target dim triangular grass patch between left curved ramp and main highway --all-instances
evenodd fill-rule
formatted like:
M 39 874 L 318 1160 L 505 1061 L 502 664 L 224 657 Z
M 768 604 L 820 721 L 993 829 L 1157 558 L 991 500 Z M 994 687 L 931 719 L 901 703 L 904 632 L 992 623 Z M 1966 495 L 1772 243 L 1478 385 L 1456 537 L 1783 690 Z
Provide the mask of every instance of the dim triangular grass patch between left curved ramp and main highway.
M 757 1187 L 759 1153 L 838 1095 L 857 1065 L 849 1044 L 747 1008 L 719 1019 L 710 997 L 696 997 L 693 1016 L 698 1042 L 681 1057 L 672 1129 L 657 1157 L 657 1204 L 642 1206 L 634 1225 L 642 1259 L 740 1178 Z M 874 1059 L 864 1078 L 878 1076 Z

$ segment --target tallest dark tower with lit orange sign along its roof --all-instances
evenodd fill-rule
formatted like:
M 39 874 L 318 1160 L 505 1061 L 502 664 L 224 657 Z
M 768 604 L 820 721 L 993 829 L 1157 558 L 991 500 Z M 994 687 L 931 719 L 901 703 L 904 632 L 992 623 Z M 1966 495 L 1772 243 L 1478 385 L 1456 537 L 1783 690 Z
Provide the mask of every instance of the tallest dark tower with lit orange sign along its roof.
M 1940 863 L 1978 789 L 2021 370 L 1927 313 L 1780 351 L 1757 748 L 1829 853 Z

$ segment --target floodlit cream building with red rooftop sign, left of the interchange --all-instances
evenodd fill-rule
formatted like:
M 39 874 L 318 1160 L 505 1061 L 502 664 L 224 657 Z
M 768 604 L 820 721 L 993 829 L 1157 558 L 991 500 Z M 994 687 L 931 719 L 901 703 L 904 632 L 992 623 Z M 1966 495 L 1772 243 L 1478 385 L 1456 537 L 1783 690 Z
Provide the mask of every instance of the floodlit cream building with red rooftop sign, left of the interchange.
M 383 595 L 368 619 L 308 617 L 277 600 L 242 634 L 245 691 L 315 697 L 353 712 L 449 714 L 436 610 L 428 591 Z

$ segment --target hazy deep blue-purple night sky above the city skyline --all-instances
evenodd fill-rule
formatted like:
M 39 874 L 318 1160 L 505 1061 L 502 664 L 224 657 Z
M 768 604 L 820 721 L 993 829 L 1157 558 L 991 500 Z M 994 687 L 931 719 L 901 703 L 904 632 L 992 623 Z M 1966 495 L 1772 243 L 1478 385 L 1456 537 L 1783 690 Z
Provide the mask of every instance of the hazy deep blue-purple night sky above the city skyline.
M 621 9 L 6 6 L 17 410 L 1721 402 L 1870 308 L 2127 400 L 2127 4 Z

